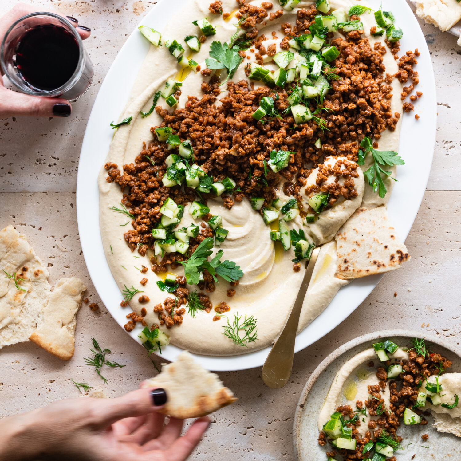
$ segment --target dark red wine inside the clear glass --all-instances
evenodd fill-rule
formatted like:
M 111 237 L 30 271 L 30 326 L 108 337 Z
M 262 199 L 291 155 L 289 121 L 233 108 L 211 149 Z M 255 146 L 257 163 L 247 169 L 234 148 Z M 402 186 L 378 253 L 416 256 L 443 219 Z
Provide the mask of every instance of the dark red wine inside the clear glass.
M 64 85 L 77 68 L 79 47 L 64 27 L 40 25 L 28 30 L 16 48 L 16 67 L 22 78 L 41 90 Z

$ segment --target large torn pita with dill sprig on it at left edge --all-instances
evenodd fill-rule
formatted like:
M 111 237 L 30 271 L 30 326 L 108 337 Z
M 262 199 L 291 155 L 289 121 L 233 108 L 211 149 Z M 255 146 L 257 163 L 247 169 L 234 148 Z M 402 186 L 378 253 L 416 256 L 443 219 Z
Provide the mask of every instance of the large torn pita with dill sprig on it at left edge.
M 25 236 L 11 225 L 0 231 L 0 349 L 28 341 L 50 295 L 48 276 Z

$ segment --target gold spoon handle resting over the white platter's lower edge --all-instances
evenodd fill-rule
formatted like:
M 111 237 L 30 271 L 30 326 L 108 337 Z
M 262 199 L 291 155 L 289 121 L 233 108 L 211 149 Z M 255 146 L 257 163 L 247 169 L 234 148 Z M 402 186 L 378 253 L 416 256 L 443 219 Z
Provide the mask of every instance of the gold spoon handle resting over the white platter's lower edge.
M 307 287 L 312 278 L 315 261 L 317 260 L 319 251 L 320 247 L 317 247 L 312 252 L 290 317 L 282 333 L 278 337 L 278 340 L 272 346 L 271 352 L 269 352 L 262 367 L 262 380 L 264 384 L 272 387 L 272 389 L 284 387 L 290 379 L 291 369 L 293 367 L 293 355 L 295 354 L 295 339 L 299 315 L 301 314 L 302 303 L 304 302 Z

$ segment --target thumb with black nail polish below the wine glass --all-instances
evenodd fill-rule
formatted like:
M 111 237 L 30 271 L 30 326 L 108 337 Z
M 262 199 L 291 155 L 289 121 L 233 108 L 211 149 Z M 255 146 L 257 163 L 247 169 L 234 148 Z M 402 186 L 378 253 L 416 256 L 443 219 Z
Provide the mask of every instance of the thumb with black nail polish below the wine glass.
M 69 117 L 72 106 L 61 98 L 24 95 L 0 86 L 0 118 L 30 115 L 32 117 Z

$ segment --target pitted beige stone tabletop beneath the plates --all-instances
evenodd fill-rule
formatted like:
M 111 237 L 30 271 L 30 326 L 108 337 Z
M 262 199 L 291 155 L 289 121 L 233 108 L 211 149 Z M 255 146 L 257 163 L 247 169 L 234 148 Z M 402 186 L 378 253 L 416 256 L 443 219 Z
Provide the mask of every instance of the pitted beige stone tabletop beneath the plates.
M 87 119 L 100 84 L 118 50 L 155 2 L 132 0 L 43 0 L 92 29 L 85 47 L 95 66 L 89 91 L 73 106 L 70 118 L 8 118 L 0 123 L 0 228 L 14 225 L 48 263 L 53 284 L 80 277 L 88 287 L 91 311 L 83 304 L 77 317 L 75 355 L 63 362 L 23 343 L 0 350 L 0 417 L 79 395 L 71 378 L 120 396 L 156 374 L 145 349 L 126 335 L 100 302 L 80 247 L 76 215 L 77 165 Z M 4 0 L 3 15 L 15 4 Z M 193 460 L 294 460 L 293 415 L 300 392 L 315 367 L 341 344 L 361 334 L 406 328 L 445 337 L 459 344 L 461 332 L 461 48 L 456 37 L 420 21 L 431 52 L 437 84 L 437 142 L 426 194 L 406 240 L 412 259 L 386 274 L 378 287 L 341 325 L 295 355 L 290 382 L 267 388 L 261 368 L 219 373 L 239 397 L 212 414 L 213 424 L 191 456 Z M 424 97 L 424 95 L 423 95 Z M 411 115 L 410 115 L 411 116 Z M 95 232 L 98 232 L 95 229 Z M 112 350 L 105 385 L 85 366 L 91 338 Z M 160 359 L 155 359 L 160 363 Z

